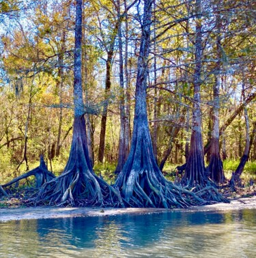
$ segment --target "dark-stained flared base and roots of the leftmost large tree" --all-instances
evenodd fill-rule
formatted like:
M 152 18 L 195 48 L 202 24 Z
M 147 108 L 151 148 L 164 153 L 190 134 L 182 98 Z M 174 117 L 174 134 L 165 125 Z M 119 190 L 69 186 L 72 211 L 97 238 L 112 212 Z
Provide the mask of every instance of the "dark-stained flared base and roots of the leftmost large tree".
M 63 173 L 46 182 L 33 201 L 48 205 L 124 207 L 119 190 L 104 182 L 91 167 L 84 117 L 75 118 L 70 158 Z

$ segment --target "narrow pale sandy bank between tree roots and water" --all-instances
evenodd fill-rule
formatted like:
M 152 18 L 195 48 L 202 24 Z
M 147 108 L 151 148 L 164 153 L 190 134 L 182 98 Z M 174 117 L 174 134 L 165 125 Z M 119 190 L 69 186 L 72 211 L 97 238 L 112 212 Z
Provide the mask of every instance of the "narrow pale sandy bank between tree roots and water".
M 187 209 L 113 208 L 113 207 L 18 207 L 0 208 L 0 223 L 10 220 L 40 218 L 74 218 L 83 216 L 117 216 L 123 214 L 152 214 L 161 212 L 225 212 L 229 210 L 256 210 L 256 196 L 232 200 L 231 203 L 193 206 Z

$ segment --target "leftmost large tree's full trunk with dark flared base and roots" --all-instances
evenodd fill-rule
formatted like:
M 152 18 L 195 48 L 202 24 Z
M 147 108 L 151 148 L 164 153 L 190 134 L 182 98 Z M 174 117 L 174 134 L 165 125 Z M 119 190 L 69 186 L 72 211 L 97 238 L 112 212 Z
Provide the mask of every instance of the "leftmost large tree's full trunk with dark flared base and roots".
M 42 186 L 37 201 L 48 201 L 49 204 L 124 206 L 118 190 L 94 173 L 89 160 L 81 74 L 82 1 L 76 0 L 74 127 L 70 156 L 63 173 Z

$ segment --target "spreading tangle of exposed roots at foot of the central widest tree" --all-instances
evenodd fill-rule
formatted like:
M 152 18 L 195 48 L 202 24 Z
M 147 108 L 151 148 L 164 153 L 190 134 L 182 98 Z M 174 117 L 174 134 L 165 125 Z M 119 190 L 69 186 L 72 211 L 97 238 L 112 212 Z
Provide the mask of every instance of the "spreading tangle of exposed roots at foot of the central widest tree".
M 122 197 L 129 207 L 181 207 L 229 202 L 213 186 L 187 190 L 165 178 L 156 178 L 154 172 L 144 171 L 138 177 L 132 175 L 129 185 L 122 190 Z M 132 186 L 132 187 L 131 187 Z M 142 187 L 143 186 L 143 187 Z

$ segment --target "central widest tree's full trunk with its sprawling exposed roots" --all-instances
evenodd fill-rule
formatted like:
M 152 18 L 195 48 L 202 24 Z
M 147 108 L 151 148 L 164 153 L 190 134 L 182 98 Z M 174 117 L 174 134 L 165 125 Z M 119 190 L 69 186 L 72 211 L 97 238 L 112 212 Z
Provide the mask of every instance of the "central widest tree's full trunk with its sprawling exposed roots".
M 150 138 L 146 88 L 153 1 L 144 1 L 132 144 L 124 169 L 119 173 L 115 186 L 119 188 L 126 205 L 131 207 L 188 207 L 203 200 L 195 193 L 175 186 L 163 177 L 156 164 Z

